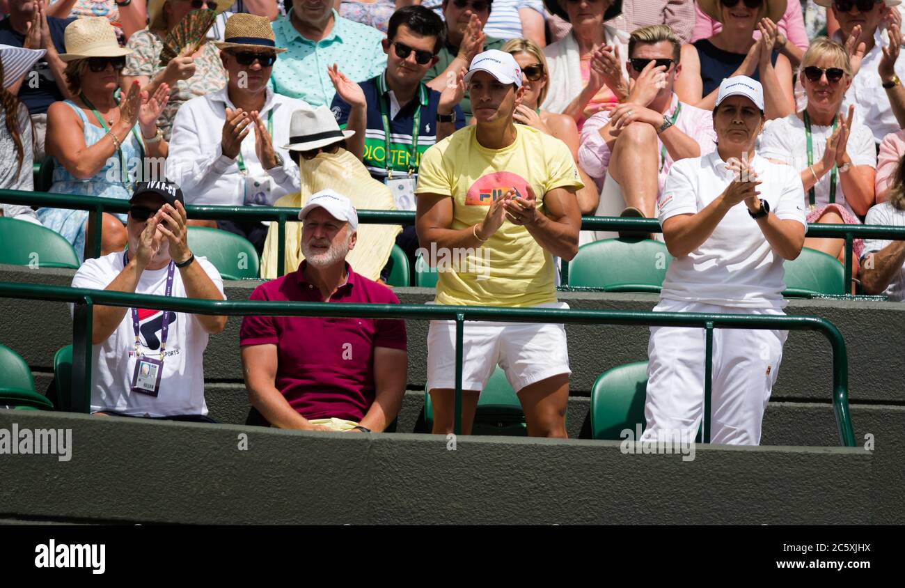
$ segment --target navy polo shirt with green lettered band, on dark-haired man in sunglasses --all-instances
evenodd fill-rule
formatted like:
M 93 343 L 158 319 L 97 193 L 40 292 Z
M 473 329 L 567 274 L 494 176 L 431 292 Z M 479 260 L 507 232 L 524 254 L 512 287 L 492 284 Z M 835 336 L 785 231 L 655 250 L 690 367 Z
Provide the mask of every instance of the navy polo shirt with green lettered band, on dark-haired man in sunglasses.
M 386 178 L 386 138 L 384 122 L 380 113 L 380 101 L 386 101 L 387 116 L 389 107 L 389 88 L 386 86 L 386 71 L 365 82 L 359 82 L 367 99 L 367 130 L 365 133 L 365 158 L 364 163 L 371 177 L 380 181 Z M 418 154 L 414 162 L 415 173 L 421 163 L 424 151 L 437 142 L 437 106 L 440 104 L 440 92 L 431 90 L 424 83 L 421 84 L 414 100 L 403 106 L 390 123 L 390 169 L 394 171 L 394 178 L 405 176 L 408 173 L 408 160 L 412 153 L 412 130 L 414 127 L 414 111 L 421 105 L 421 124 L 418 130 Z M 330 110 L 337 118 L 339 126 L 346 128 L 348 114 L 351 107 L 348 102 L 339 98 L 337 94 L 330 104 Z M 457 105 L 453 111 L 455 116 L 455 129 L 465 126 L 465 115 Z M 400 172 L 396 174 L 395 172 Z

